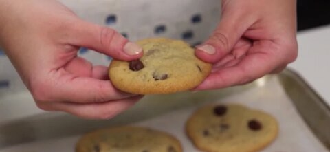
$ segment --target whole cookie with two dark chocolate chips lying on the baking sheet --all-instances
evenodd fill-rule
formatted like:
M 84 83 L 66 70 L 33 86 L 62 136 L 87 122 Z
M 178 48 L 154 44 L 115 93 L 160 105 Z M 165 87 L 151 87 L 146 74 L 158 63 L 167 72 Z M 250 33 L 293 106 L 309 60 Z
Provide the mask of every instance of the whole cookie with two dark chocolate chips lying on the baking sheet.
M 243 105 L 209 105 L 192 114 L 186 133 L 202 151 L 254 152 L 276 138 L 278 123 L 270 114 Z

